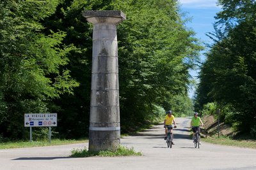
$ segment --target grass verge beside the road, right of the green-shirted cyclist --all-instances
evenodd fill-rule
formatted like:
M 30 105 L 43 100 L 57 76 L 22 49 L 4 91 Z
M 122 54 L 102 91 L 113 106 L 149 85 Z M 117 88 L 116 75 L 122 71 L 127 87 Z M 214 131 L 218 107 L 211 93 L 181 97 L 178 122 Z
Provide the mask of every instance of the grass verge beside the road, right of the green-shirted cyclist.
M 202 141 L 207 143 L 225 145 L 225 146 L 237 146 L 241 148 L 254 148 L 256 149 L 256 140 L 255 139 L 232 139 L 227 136 L 212 136 L 207 138 L 201 138 Z

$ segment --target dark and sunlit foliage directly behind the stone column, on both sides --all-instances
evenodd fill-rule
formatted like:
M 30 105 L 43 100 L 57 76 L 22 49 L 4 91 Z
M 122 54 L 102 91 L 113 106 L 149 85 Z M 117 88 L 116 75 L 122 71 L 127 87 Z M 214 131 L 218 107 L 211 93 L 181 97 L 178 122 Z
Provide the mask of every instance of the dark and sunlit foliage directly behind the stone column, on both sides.
M 79 138 L 88 132 L 92 25 L 81 15 L 83 10 L 122 10 L 127 16 L 118 24 L 123 132 L 156 122 L 163 117 L 163 110 L 175 106 L 172 97 L 187 96 L 188 69 L 198 60 L 202 47 L 193 38 L 194 33 L 185 29 L 175 1 L 61 1 L 56 13 L 43 24 L 47 29 L 67 32 L 64 44 L 75 46 L 67 56 L 68 69 L 80 83 L 74 96 L 61 95 L 54 101 L 57 107 L 52 106 L 65 124 L 65 129 L 58 127 L 61 137 Z M 47 29 L 45 33 L 49 34 Z

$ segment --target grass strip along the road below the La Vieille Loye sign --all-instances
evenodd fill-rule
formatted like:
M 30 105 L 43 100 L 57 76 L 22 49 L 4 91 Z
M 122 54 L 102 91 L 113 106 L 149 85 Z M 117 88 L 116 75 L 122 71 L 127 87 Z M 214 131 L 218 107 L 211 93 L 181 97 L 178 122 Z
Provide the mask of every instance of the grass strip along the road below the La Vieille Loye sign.
M 10 149 L 10 148 L 31 148 L 39 146 L 52 146 L 52 145 L 67 145 L 75 143 L 87 143 L 88 139 L 52 139 L 51 143 L 48 140 L 42 141 L 9 141 L 6 143 L 0 143 L 0 149 Z

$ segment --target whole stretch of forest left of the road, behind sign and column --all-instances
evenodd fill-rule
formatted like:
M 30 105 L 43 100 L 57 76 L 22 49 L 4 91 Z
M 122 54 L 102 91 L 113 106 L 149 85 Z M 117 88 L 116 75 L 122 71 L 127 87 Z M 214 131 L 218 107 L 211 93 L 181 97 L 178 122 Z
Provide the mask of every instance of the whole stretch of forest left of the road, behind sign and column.
M 49 0 L 0 3 L 0 141 L 28 139 L 25 113 L 58 113 L 54 138 L 88 136 L 92 25 L 84 10 L 121 10 L 118 24 L 122 133 L 172 109 L 193 113 L 189 69 L 202 45 L 173 0 Z M 33 129 L 47 138 L 47 129 Z

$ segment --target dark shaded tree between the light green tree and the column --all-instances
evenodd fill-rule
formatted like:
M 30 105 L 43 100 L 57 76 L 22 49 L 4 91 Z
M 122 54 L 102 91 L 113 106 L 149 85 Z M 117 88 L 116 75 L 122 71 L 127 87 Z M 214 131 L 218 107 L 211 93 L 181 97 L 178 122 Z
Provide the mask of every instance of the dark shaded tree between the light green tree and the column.
M 42 20 L 45 34 L 50 30 L 66 32 L 63 45 L 73 46 L 68 53 L 67 66 L 72 78 L 79 82 L 74 95 L 63 94 L 52 101 L 51 110 L 58 112 L 56 131 L 61 138 L 82 138 L 88 136 L 90 123 L 90 90 L 92 68 L 92 25 L 86 22 L 83 10 L 111 10 L 112 1 L 61 1 L 56 12 Z

